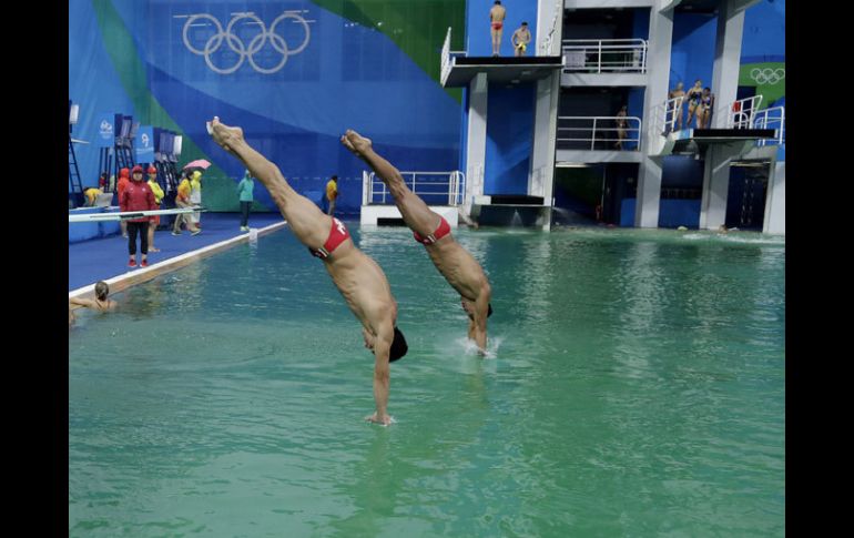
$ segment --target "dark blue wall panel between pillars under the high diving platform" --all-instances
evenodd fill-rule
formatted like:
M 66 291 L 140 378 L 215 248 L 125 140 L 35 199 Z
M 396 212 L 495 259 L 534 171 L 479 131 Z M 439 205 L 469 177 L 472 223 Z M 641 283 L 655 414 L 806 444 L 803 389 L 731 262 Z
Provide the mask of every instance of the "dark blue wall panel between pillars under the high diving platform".
M 535 83 L 489 87 L 484 194 L 528 194 L 535 91 Z

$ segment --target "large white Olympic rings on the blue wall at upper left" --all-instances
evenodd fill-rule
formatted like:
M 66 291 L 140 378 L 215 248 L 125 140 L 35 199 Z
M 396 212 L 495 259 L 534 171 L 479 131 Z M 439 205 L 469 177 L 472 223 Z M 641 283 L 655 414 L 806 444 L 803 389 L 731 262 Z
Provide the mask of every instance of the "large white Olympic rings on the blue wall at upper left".
M 187 33 L 193 22 L 201 19 L 211 21 L 213 26 L 216 28 L 216 33 L 214 33 L 207 39 L 207 42 L 205 42 L 203 49 L 197 49 L 192 44 L 190 44 L 190 37 L 187 35 Z M 261 33 L 252 38 L 248 45 L 245 44 L 237 35 L 235 35 L 232 32 L 234 24 L 237 21 L 241 21 L 243 19 L 250 19 L 261 27 Z M 289 50 L 285 40 L 276 33 L 276 26 L 279 22 L 284 21 L 285 19 L 294 19 L 296 22 L 302 24 L 303 28 L 305 29 L 305 39 L 303 40 L 302 44 L 299 44 L 299 47 L 293 50 Z M 231 74 L 237 71 L 237 69 L 240 69 L 240 67 L 243 65 L 244 60 L 248 60 L 250 65 L 252 65 L 252 68 L 258 73 L 273 74 L 285 67 L 285 63 L 287 63 L 287 57 L 298 54 L 306 47 L 308 47 L 308 41 L 311 40 L 311 35 L 312 35 L 312 32 L 308 28 L 308 22 L 306 22 L 306 20 L 303 19 L 299 14 L 292 11 L 285 11 L 284 13 L 278 16 L 273 21 L 273 24 L 271 24 L 270 30 L 267 30 L 266 26 L 264 24 L 264 22 L 262 22 L 261 19 L 258 19 L 252 13 L 236 14 L 228 22 L 228 26 L 225 27 L 225 30 L 223 30 L 223 27 L 220 23 L 220 21 L 212 14 L 196 13 L 196 14 L 190 16 L 186 22 L 184 22 L 184 31 L 183 31 L 184 44 L 186 45 L 187 50 L 190 50 L 190 52 L 192 52 L 193 54 L 203 55 L 204 61 L 207 64 L 207 67 L 211 68 L 211 71 L 220 74 Z M 282 60 L 279 60 L 279 62 L 276 65 L 270 69 L 263 68 L 257 63 L 255 63 L 255 58 L 254 58 L 255 54 L 262 48 L 264 48 L 264 45 L 267 43 L 267 40 L 273 45 L 273 49 L 275 49 L 276 52 L 282 54 Z M 220 47 L 223 44 L 223 41 L 225 41 L 225 44 L 228 47 L 228 49 L 231 49 L 233 52 L 235 52 L 238 55 L 237 63 L 235 63 L 230 68 L 220 68 L 218 65 L 214 65 L 213 60 L 211 59 L 211 54 L 220 50 Z

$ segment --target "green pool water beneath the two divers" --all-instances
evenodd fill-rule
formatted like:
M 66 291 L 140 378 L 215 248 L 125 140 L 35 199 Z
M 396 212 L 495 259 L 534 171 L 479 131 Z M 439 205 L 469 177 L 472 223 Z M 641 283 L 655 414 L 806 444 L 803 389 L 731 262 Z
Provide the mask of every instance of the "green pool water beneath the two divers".
M 69 331 L 71 536 L 782 536 L 785 243 L 455 231 L 490 355 L 405 229 L 349 224 L 409 354 L 373 356 L 288 231 Z

